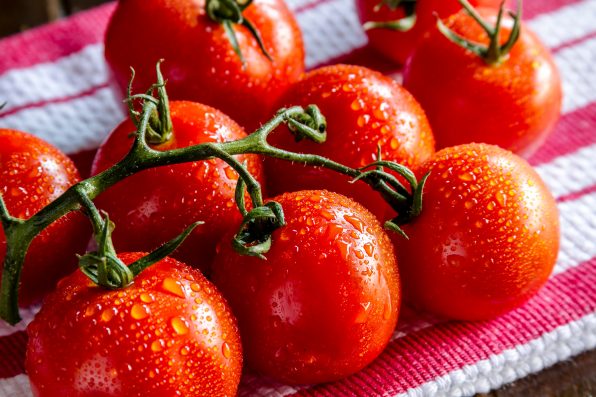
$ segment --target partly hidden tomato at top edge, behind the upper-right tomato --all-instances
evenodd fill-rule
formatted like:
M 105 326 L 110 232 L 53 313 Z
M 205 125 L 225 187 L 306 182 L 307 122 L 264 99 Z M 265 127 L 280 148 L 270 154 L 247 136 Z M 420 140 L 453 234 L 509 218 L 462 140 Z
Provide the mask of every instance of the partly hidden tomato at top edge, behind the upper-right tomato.
M 502 0 L 470 0 L 470 3 L 474 6 L 485 7 L 498 7 L 501 2 Z M 380 3 L 383 5 L 378 7 Z M 396 21 L 406 17 L 404 5 L 392 10 L 385 3 L 385 1 L 379 0 L 358 0 L 356 5 L 360 21 L 365 24 L 367 22 Z M 407 6 L 412 2 L 403 1 L 403 3 Z M 434 13 L 437 13 L 441 18 L 446 18 L 461 9 L 461 5 L 457 0 L 415 0 L 414 3 L 416 21 L 411 29 L 397 31 L 376 28 L 366 31 L 370 45 L 400 65 L 406 61 L 420 37 L 429 28 L 435 26 L 436 17 Z

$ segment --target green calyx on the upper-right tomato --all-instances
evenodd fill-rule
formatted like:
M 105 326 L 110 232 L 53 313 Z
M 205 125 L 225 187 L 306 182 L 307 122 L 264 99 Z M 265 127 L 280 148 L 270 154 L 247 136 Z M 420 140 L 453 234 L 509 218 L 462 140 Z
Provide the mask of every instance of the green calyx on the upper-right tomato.
M 516 12 L 508 11 L 509 16 L 513 18 L 513 27 L 509 37 L 507 38 L 507 41 L 502 45 L 499 41 L 499 34 L 501 31 L 501 23 L 503 21 L 505 2 L 501 3 L 495 26 L 490 26 L 467 0 L 459 0 L 459 2 L 464 7 L 464 10 L 466 10 L 466 12 L 482 27 L 482 29 L 488 35 L 490 39 L 488 46 L 473 42 L 466 39 L 465 37 L 460 36 L 449 29 L 437 16 L 437 28 L 439 31 L 451 42 L 478 55 L 488 65 L 499 65 L 500 63 L 504 62 L 519 38 L 521 31 L 522 0 L 517 1 Z

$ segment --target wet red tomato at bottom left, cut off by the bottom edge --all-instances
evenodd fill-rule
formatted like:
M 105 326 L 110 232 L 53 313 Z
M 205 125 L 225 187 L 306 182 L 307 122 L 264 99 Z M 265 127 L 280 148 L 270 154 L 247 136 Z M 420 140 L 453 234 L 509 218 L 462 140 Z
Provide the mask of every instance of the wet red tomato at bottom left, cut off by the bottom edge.
M 130 264 L 142 254 L 119 256 Z M 225 300 L 200 272 L 171 258 L 121 290 L 76 271 L 27 332 L 37 397 L 233 396 L 240 381 L 240 337 Z

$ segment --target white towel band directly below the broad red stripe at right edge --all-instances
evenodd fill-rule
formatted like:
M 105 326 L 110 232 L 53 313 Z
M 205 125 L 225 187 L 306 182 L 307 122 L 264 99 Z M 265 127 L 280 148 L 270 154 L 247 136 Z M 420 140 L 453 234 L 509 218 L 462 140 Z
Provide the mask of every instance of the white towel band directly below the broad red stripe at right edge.
M 559 156 L 535 169 L 555 198 L 593 186 L 596 184 L 596 144 Z

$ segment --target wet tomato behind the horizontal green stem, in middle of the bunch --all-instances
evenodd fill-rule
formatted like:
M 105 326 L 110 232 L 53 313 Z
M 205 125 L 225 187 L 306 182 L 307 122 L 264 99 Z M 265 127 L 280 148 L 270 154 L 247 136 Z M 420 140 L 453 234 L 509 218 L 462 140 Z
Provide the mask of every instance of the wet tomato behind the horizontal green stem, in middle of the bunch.
M 399 84 L 360 66 L 337 65 L 314 70 L 296 83 L 282 104 L 316 104 L 327 118 L 327 141 L 296 142 L 287 127 L 270 135 L 280 148 L 318 154 L 350 167 L 362 167 L 382 158 L 415 168 L 434 153 L 434 139 L 416 100 Z M 266 159 L 271 194 L 301 189 L 329 189 L 352 197 L 383 215 L 387 204 L 364 183 L 311 166 Z

